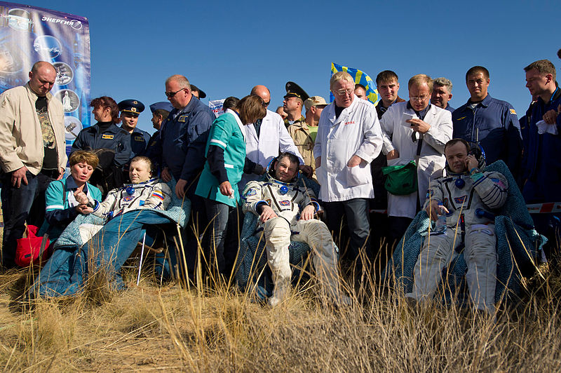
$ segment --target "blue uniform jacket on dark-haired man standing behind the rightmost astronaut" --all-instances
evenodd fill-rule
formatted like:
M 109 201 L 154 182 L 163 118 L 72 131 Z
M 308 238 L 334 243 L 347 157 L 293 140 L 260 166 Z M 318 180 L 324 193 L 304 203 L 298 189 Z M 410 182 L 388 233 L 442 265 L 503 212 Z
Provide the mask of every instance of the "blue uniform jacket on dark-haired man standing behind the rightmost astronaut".
M 488 165 L 502 159 L 513 175 L 518 175 L 522 137 L 515 109 L 508 102 L 496 100 L 491 95 L 487 95 L 475 109 L 468 106 L 470 103 L 466 102 L 452 113 L 452 137 L 469 142 L 479 138 Z

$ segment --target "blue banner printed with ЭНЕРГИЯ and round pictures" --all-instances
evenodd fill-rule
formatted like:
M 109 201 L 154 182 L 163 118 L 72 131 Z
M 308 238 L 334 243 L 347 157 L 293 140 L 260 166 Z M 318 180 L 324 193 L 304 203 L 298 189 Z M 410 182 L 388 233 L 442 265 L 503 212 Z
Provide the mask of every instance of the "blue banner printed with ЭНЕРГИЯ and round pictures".
M 0 1 L 0 93 L 29 81 L 37 61 L 57 70 L 50 91 L 65 109 L 67 152 L 90 126 L 90 27 L 78 15 Z

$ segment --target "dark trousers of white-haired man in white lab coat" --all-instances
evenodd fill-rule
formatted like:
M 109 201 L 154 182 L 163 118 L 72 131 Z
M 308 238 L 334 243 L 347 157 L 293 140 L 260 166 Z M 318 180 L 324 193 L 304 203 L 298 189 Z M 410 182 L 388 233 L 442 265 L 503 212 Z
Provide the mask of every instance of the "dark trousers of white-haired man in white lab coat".
M 324 202 L 327 228 L 335 237 L 345 236 L 351 239 L 349 259 L 356 259 L 359 252 L 365 251 L 372 259 L 370 250 L 370 216 L 367 198 L 353 198 L 348 201 Z M 347 229 L 344 229 L 343 217 L 346 218 Z M 343 234 L 339 234 L 343 233 Z

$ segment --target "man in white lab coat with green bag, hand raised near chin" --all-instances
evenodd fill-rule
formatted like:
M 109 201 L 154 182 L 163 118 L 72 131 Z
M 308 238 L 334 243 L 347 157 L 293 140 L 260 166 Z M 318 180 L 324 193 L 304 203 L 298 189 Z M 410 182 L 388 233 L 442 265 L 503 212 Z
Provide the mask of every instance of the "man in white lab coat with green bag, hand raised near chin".
M 391 105 L 381 117 L 382 151 L 388 166 L 417 164 L 417 191 L 406 195 L 388 193 L 390 236 L 399 240 L 425 200 L 431 175 L 444 168 L 444 145 L 452 138 L 452 114 L 432 105 L 433 81 L 418 74 L 409 80 L 409 101 Z

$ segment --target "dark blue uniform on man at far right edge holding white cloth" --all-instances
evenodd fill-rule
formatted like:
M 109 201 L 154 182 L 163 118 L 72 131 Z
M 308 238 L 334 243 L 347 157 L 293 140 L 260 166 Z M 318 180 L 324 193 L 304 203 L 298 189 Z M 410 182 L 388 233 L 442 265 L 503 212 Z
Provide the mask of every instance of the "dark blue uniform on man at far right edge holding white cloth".
M 557 116 L 558 135 L 538 134 L 536 123 L 543 120 L 546 111 L 555 110 L 561 104 L 561 90 L 557 88 L 549 102 L 541 97 L 532 104 L 531 119 L 527 130 L 522 179 L 527 180 L 522 194 L 527 203 L 558 202 L 561 196 L 561 115 Z

